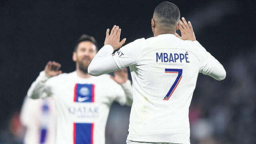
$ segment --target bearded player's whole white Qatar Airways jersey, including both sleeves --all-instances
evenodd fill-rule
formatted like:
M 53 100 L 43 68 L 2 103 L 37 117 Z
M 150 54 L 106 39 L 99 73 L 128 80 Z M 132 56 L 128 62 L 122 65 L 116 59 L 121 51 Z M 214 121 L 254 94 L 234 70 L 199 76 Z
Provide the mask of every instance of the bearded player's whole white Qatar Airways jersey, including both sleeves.
M 114 100 L 132 104 L 130 81 L 119 85 L 104 74 L 80 78 L 76 72 L 48 78 L 41 72 L 30 98 L 52 96 L 56 106 L 56 144 L 105 144 L 105 127 Z

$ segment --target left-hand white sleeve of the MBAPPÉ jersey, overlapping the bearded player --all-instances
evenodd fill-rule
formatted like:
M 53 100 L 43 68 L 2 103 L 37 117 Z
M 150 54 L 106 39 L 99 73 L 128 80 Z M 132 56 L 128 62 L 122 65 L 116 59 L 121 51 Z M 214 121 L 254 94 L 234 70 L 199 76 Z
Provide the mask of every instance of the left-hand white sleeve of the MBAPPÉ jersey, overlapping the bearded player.
M 113 56 L 114 48 L 108 44 L 103 46 L 90 63 L 88 73 L 100 76 L 136 64 L 141 56 L 142 39 L 123 46 Z

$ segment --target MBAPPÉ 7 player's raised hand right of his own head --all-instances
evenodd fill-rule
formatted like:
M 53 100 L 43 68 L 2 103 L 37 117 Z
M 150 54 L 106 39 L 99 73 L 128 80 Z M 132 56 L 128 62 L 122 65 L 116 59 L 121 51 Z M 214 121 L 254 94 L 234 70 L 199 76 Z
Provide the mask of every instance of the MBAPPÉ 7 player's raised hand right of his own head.
M 185 18 L 182 18 L 182 21 L 180 20 L 179 24 L 180 24 L 179 30 L 180 30 L 181 36 L 179 36 L 176 32 L 175 32 L 175 36 L 177 36 L 178 38 L 180 38 L 182 40 L 192 40 L 192 41 L 195 41 L 196 40 L 196 36 L 194 34 L 191 22 L 188 21 L 188 23 L 187 23 Z

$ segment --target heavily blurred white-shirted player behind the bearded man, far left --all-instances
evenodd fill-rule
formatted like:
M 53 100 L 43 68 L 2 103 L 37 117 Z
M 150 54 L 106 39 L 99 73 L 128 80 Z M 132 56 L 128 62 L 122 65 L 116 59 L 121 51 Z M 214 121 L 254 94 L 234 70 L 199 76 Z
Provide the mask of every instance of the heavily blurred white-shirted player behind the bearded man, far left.
M 25 98 L 20 120 L 26 127 L 24 144 L 55 144 L 56 112 L 52 97 Z

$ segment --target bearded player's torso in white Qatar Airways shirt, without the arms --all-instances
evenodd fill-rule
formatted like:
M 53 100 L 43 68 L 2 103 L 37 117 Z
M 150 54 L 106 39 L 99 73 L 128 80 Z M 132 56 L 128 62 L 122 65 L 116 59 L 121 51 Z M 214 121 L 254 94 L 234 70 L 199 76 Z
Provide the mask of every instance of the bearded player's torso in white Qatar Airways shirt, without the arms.
M 58 113 L 57 143 L 104 143 L 106 120 L 113 101 L 104 80 L 82 79 L 71 73 L 52 92 Z

